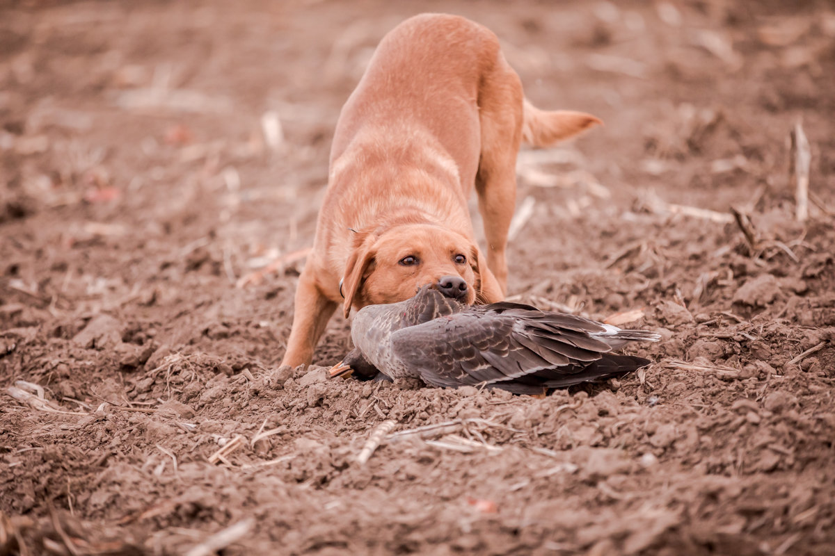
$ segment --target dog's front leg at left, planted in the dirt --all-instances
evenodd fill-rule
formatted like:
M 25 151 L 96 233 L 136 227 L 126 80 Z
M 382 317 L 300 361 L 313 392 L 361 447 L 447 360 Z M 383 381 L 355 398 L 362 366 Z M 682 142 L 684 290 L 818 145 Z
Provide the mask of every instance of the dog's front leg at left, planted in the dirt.
M 299 278 L 293 326 L 290 329 L 290 338 L 287 339 L 287 351 L 281 361 L 282 365 L 309 365 L 313 359 L 313 349 L 316 348 L 321 334 L 325 332 L 327 321 L 337 310 L 337 302 L 331 301 L 321 293 L 311 274 L 305 268 Z

